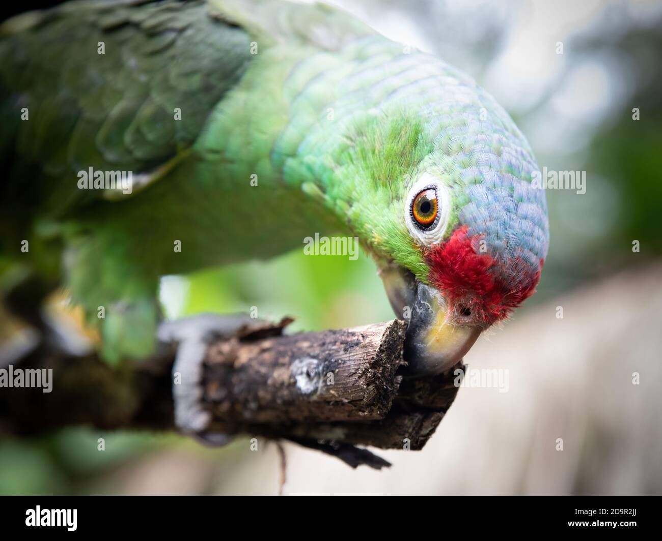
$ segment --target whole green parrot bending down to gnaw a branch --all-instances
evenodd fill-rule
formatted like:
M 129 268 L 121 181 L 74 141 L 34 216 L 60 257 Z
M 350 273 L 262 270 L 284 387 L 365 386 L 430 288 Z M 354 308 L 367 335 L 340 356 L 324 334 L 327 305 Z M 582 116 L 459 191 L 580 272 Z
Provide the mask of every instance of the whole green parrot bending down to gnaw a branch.
M 414 376 L 453 366 L 540 279 L 545 193 L 510 116 L 331 7 L 71 1 L 4 22 L 0 66 L 7 298 L 28 318 L 66 286 L 109 361 L 170 337 L 195 379 L 214 322 L 158 331 L 160 277 L 314 233 L 373 258 Z

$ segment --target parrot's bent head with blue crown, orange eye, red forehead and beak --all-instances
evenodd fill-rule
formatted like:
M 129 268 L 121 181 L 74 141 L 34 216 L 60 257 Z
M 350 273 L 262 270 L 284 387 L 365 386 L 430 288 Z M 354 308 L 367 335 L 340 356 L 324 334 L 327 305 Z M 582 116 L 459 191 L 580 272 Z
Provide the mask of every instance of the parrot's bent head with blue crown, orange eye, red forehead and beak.
M 532 184 L 538 167 L 508 114 L 495 103 L 491 112 L 463 106 L 413 124 L 410 115 L 371 143 L 404 164 L 400 183 L 373 175 L 381 196 L 363 210 L 391 306 L 408 319 L 414 375 L 451 368 L 540 280 L 549 233 L 545 192 Z

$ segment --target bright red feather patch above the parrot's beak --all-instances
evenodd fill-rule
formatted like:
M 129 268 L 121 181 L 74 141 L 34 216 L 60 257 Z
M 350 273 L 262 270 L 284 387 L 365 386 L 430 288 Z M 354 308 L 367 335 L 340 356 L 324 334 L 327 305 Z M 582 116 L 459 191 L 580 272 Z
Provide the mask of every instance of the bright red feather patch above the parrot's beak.
M 534 293 L 544 261 L 536 272 L 519 257 L 506 263 L 496 261 L 487 253 L 479 253 L 481 238 L 469 237 L 467 226 L 463 226 L 446 243 L 428 249 L 426 260 L 428 279 L 442 290 L 451 313 L 468 308 L 471 315 L 464 323 L 487 326 L 507 317 L 512 308 Z M 506 283 L 502 276 L 508 275 L 514 278 Z

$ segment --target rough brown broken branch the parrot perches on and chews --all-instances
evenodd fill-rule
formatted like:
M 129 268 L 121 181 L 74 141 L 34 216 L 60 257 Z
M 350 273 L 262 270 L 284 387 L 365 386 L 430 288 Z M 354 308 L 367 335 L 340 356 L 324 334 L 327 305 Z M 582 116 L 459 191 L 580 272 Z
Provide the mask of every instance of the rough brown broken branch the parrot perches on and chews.
M 283 335 L 291 321 L 242 327 L 211 343 L 203 369 L 210 429 L 285 438 L 351 466 L 388 463 L 355 445 L 424 446 L 457 388 L 453 373 L 403 379 L 406 323 Z M 175 347 L 145 362 L 109 366 L 37 349 L 21 368 L 52 368 L 52 392 L 3 388 L 0 433 L 30 435 L 71 424 L 101 429 L 173 430 Z

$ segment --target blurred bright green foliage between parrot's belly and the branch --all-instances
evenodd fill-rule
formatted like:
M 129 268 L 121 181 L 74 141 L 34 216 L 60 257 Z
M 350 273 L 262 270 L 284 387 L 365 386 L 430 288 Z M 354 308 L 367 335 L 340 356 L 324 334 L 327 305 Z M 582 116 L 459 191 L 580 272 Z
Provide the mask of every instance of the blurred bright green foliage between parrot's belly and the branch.
M 180 315 L 250 312 L 295 317 L 292 329 L 365 325 L 393 317 L 373 261 L 342 255 L 304 255 L 297 250 L 265 262 L 198 272 L 189 277 Z

